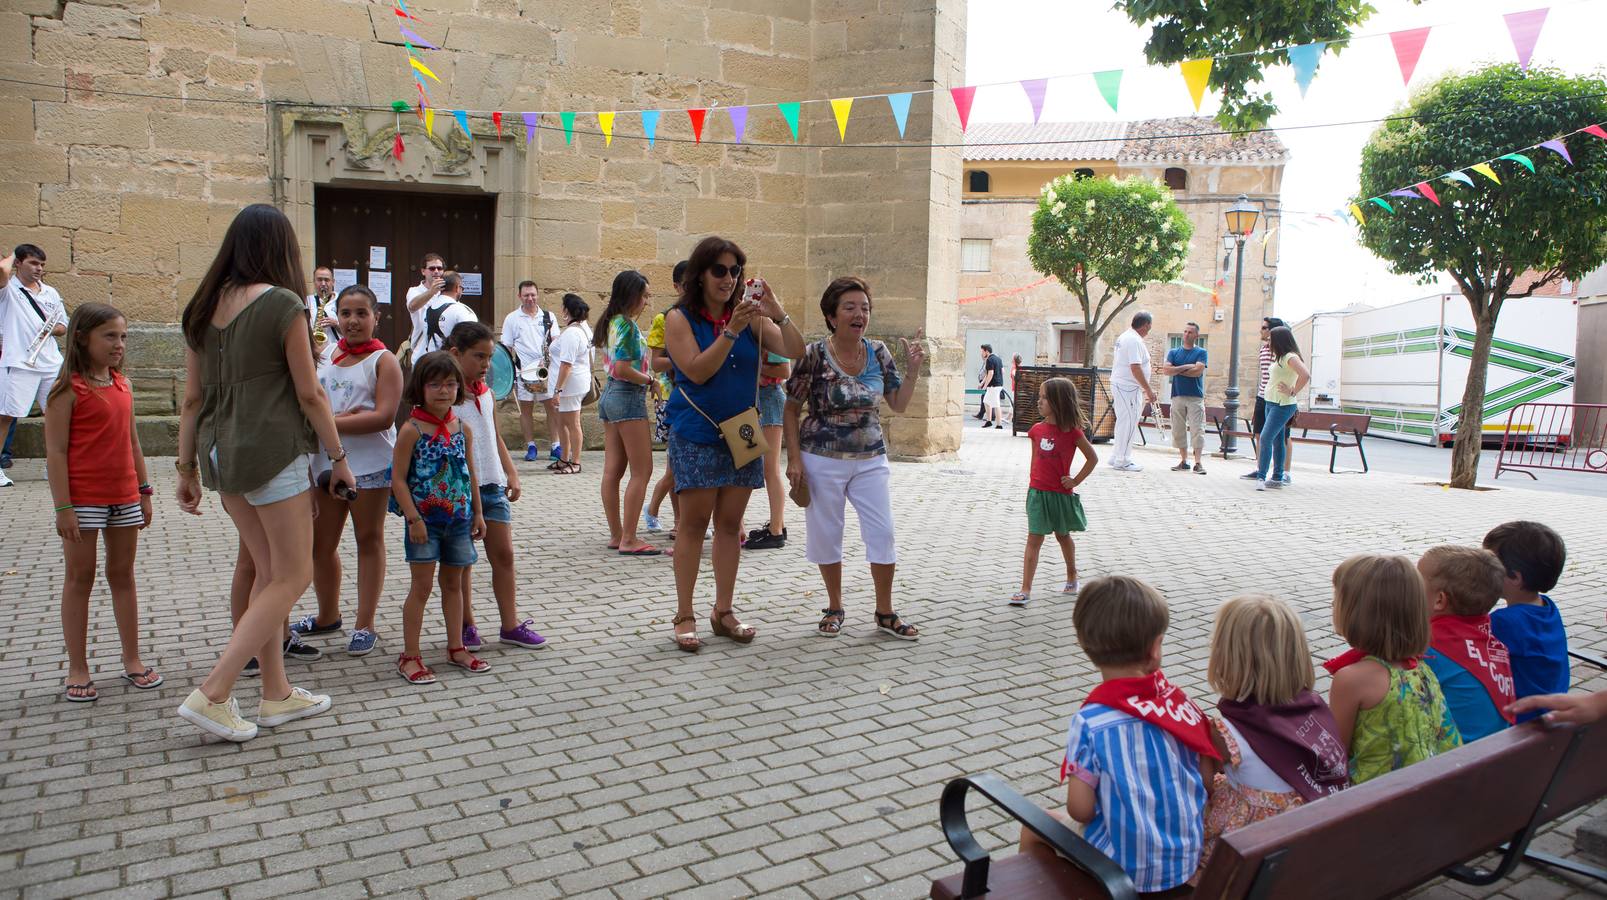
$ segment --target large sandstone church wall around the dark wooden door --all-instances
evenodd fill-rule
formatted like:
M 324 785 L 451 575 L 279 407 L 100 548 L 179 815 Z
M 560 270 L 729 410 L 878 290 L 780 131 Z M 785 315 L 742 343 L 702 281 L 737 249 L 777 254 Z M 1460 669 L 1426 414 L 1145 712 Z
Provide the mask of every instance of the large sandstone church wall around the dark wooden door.
M 440 77 L 432 135 L 411 111 L 389 109 L 416 98 L 394 3 L 3 10 L 0 243 L 42 246 L 69 305 L 112 302 L 135 321 L 129 358 L 153 429 L 166 429 L 180 391 L 172 323 L 239 207 L 284 209 L 309 275 L 334 256 L 366 278 L 366 254 L 328 249 L 357 241 L 331 225 L 349 223 L 331 211 L 344 202 L 365 228 L 395 211 L 448 219 L 386 225 L 399 299 L 418 280 L 418 260 L 399 248 L 437 241 L 419 228 L 448 228 L 453 241 L 484 230 L 461 254 L 431 249 L 466 257 L 447 262 L 482 276 L 474 302 L 498 325 L 524 278 L 553 307 L 566 291 L 603 297 L 615 272 L 640 268 L 662 307 L 670 267 L 710 233 L 744 246 L 749 270 L 807 334 L 824 333 L 823 286 L 863 275 L 876 291 L 873 331 L 924 328 L 934 339 L 930 378 L 890 426 L 895 452 L 958 445 L 961 156 L 926 146 L 959 141 L 953 104 L 943 92 L 935 108 L 918 95 L 900 141 L 885 104 L 866 103 L 847 141 L 887 146 L 836 149 L 824 98 L 963 84 L 964 0 L 413 0 L 419 21 L 408 24 L 440 45 L 424 51 Z M 792 100 L 820 100 L 804 104 L 799 146 L 773 106 Z M 720 111 L 734 104 L 750 108 L 741 146 Z M 704 143 L 672 111 L 649 146 L 628 112 L 694 106 L 712 108 Z M 472 140 L 455 108 L 479 111 Z M 506 111 L 500 133 L 493 109 Z M 580 111 L 572 141 L 556 114 L 566 109 Z M 587 111 L 611 109 L 622 112 L 604 146 Z M 530 145 L 519 111 L 554 111 Z

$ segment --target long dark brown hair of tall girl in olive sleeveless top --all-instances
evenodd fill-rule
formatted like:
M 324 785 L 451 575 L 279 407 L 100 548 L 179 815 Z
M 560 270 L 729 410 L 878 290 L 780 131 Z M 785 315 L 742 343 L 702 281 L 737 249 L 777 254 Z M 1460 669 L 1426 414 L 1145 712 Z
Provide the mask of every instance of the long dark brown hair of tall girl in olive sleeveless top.
M 241 209 L 228 223 L 211 268 L 201 276 L 201 284 L 185 305 L 185 344 L 190 344 L 191 350 L 201 349 L 223 291 L 246 284 L 273 284 L 296 296 L 301 296 L 301 289 L 307 284 L 296 228 L 278 207 L 265 202 Z M 307 344 L 312 346 L 310 336 Z M 313 352 L 315 358 L 317 355 Z

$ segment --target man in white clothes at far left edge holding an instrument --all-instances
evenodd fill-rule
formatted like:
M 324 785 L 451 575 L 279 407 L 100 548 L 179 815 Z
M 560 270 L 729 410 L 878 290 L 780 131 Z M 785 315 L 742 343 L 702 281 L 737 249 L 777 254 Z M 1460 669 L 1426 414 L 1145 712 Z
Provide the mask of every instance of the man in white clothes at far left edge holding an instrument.
M 13 275 L 14 272 L 14 275 Z M 61 347 L 56 338 L 67 333 L 67 307 L 61 294 L 45 284 L 45 251 L 34 244 L 18 244 L 16 251 L 0 260 L 0 439 L 11 424 L 34 411 L 45 411 L 45 397 L 61 370 Z M 39 354 L 29 362 L 29 354 L 42 331 L 50 333 Z M 0 471 L 0 487 L 11 487 L 11 479 Z

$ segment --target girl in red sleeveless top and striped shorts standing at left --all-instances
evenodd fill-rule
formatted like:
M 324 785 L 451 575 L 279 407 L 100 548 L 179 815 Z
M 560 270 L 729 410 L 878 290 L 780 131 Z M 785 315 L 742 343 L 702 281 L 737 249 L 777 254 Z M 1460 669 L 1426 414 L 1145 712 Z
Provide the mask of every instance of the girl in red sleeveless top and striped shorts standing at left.
M 149 691 L 162 683 L 140 662 L 140 612 L 133 554 L 140 529 L 151 524 L 151 485 L 133 428 L 133 392 L 122 376 L 129 325 L 106 304 L 82 304 L 67 323 L 61 376 L 45 402 L 45 460 L 56 505 L 67 575 L 61 585 L 61 630 L 67 643 L 66 696 L 90 702 L 85 643 L 90 588 L 95 587 L 95 532 L 106 532 L 106 583 L 122 640 L 122 677 Z

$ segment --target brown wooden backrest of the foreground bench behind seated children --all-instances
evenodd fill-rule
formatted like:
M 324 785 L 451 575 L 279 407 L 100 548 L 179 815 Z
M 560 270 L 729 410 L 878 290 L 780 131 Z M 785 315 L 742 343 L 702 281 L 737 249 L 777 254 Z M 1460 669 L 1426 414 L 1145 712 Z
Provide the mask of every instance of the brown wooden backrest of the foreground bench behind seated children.
M 1395 895 L 1512 839 L 1543 797 L 1541 821 L 1601 797 L 1602 759 L 1607 725 L 1499 731 L 1226 834 L 1194 895 L 1247 897 L 1257 876 L 1260 900 Z

